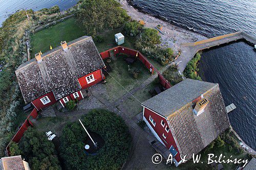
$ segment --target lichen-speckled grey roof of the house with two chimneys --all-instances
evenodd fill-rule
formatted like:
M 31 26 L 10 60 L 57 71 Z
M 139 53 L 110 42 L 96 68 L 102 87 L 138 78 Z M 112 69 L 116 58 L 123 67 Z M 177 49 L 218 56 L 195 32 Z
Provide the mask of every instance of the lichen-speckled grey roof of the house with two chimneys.
M 81 89 L 78 78 L 104 67 L 92 37 L 83 36 L 41 55 L 38 63 L 32 59 L 15 71 L 26 103 L 52 91 L 59 100 Z

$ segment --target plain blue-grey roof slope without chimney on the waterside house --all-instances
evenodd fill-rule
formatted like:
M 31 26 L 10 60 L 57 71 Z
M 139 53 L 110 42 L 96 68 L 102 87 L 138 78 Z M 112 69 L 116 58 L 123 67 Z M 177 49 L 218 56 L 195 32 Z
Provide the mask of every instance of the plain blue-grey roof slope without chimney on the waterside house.
M 185 79 L 175 86 L 143 102 L 142 105 L 164 117 L 168 117 L 168 115 L 174 113 L 210 88 L 217 85 L 218 84 L 209 82 Z

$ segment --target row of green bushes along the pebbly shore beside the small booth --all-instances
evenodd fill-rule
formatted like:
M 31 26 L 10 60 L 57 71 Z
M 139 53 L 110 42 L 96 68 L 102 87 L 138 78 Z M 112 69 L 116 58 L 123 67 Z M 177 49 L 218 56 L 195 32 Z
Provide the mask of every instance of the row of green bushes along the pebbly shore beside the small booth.
M 155 59 L 162 65 L 174 61 L 173 50 L 158 45 L 161 43 L 161 36 L 158 35 L 157 30 L 144 28 L 138 21 L 132 20 L 125 23 L 123 32 L 136 39 L 136 48 L 147 57 Z

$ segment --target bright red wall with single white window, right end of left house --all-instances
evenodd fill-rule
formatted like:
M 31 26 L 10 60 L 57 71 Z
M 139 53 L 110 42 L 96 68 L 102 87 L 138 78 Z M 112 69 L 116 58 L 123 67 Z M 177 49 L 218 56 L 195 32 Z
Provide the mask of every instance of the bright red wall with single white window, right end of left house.
M 92 74 L 94 76 L 95 81 L 90 83 L 90 84 L 87 84 L 86 77 L 90 76 Z M 89 75 L 86 75 L 86 76 L 83 76 L 83 77 L 79 78 L 78 82 L 80 83 L 82 89 L 86 89 L 86 88 L 89 88 L 89 87 L 101 82 L 102 80 L 103 79 L 102 79 L 101 70 L 98 69 L 97 71 L 94 71 L 94 72 L 90 73 Z

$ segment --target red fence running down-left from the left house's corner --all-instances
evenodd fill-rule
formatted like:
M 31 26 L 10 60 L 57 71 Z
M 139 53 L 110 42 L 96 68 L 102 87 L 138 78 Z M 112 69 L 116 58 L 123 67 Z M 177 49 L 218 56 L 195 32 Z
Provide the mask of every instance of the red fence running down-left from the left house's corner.
M 38 115 L 36 108 L 34 108 L 32 110 L 32 112 L 28 115 L 27 119 L 25 120 L 25 122 L 23 123 L 23 125 L 19 128 L 19 130 L 17 131 L 17 133 L 13 136 L 12 140 L 10 141 L 10 143 L 12 141 L 14 142 L 19 142 L 20 139 L 22 138 L 24 132 L 28 129 L 28 127 L 33 126 L 32 122 L 29 120 L 30 116 L 33 118 L 36 118 Z M 10 143 L 7 145 L 6 147 L 6 152 L 8 154 L 8 156 L 10 156 Z

